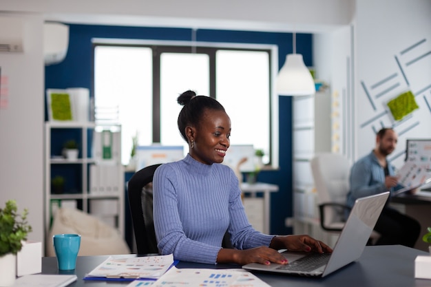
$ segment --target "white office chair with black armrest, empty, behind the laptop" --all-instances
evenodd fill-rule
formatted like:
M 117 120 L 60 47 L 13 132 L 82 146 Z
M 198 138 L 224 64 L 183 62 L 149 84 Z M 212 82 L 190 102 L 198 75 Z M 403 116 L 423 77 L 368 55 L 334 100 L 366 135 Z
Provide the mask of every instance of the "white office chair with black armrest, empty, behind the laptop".
M 350 160 L 338 153 L 317 153 L 311 160 L 317 198 L 319 199 L 320 226 L 324 231 L 341 233 L 345 223 L 346 196 L 350 189 Z M 379 238 L 372 231 L 369 244 Z

